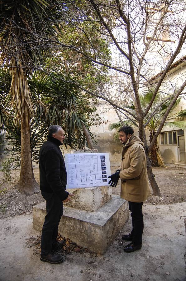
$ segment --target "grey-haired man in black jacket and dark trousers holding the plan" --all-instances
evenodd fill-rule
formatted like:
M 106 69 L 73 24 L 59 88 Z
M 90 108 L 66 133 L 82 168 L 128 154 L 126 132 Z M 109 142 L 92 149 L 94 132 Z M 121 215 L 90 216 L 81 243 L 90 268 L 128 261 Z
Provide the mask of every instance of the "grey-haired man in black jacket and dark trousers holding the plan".
M 60 145 L 64 141 L 64 131 L 61 126 L 51 125 L 48 129 L 47 141 L 39 152 L 40 189 L 46 200 L 46 216 L 41 234 L 41 261 L 58 264 L 64 261 L 64 256 L 55 251 L 63 247 L 56 240 L 58 225 L 63 214 L 63 202 L 70 201 L 72 194 L 66 191 L 67 173 Z

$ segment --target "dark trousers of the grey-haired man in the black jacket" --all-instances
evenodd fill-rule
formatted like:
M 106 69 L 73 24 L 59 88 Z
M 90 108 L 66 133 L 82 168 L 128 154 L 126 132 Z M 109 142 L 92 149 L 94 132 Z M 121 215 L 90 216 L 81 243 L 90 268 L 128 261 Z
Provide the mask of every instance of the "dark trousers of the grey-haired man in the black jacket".
M 63 202 L 54 193 L 41 191 L 46 200 L 46 216 L 41 234 L 41 255 L 47 255 L 57 244 L 58 225 L 63 214 Z

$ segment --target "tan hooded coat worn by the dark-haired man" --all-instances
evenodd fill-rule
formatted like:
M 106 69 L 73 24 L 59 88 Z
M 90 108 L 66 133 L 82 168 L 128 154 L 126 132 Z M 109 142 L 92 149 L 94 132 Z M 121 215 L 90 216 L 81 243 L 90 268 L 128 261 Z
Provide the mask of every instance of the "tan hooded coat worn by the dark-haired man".
M 143 143 L 132 134 L 123 146 L 120 168 L 121 197 L 131 202 L 143 202 L 150 196 Z

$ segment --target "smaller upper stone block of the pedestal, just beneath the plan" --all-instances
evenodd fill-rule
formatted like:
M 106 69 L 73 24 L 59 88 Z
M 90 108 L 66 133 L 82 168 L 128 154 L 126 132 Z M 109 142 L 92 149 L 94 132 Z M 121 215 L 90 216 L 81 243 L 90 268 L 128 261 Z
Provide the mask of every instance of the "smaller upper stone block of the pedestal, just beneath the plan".
M 74 196 L 71 201 L 65 203 L 65 206 L 70 206 L 82 210 L 95 212 L 109 200 L 112 196 L 112 188 L 108 185 L 68 189 L 69 193 Z

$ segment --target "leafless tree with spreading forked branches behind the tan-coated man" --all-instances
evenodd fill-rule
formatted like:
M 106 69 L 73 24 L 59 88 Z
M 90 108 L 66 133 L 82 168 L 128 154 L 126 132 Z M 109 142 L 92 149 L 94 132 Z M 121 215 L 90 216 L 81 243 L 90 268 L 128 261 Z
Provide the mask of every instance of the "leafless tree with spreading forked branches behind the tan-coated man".
M 124 85 L 127 89 L 123 88 L 123 92 L 127 91 L 129 98 L 135 104 L 135 115 L 131 117 L 135 120 L 135 126 L 138 127 L 139 136 L 145 145 L 148 176 L 154 195 L 160 195 L 160 190 L 151 170 L 150 150 L 155 144 L 171 108 L 186 86 L 186 81 L 184 81 L 179 86 L 179 89 L 174 91 L 173 87 L 170 89 L 170 83 L 169 85 L 168 82 L 165 83 L 165 76 L 170 67 L 184 53 L 186 38 L 184 8 L 184 1 L 177 0 L 151 2 L 139 0 L 85 0 L 79 1 L 78 5 L 76 5 L 76 2 L 72 2 L 72 14 L 70 14 L 70 9 L 68 14 L 69 24 L 75 24 L 79 32 L 84 34 L 85 31 L 81 22 L 88 21 L 90 28 L 95 28 L 96 34 L 100 34 L 100 37 L 106 40 L 114 59 L 112 62 L 108 62 L 107 56 L 100 57 L 94 45 L 94 40 L 88 33 L 86 33 L 87 44 L 95 50 L 93 55 L 90 55 L 84 46 L 67 46 L 63 39 L 60 42 L 60 46 L 74 50 L 93 64 L 105 66 L 119 73 L 118 76 L 121 78 L 118 79 L 118 83 L 120 83 L 121 79 L 125 81 Z M 74 11 L 76 12 L 74 13 Z M 156 81 L 151 79 L 160 71 L 161 76 Z M 153 87 L 154 94 L 148 106 L 142 109 L 139 94 L 145 87 Z M 169 91 L 167 91 L 168 88 Z M 84 91 L 107 101 L 120 112 L 119 114 L 130 116 L 131 113 L 122 105 L 122 102 L 115 99 L 116 93 L 109 96 L 105 95 L 101 90 L 91 91 L 91 89 L 84 88 Z M 159 129 L 148 146 L 145 135 L 147 123 L 144 122 L 144 118 L 148 115 L 158 91 L 165 98 L 172 98 L 172 100 L 165 111 Z M 121 91 L 117 94 L 121 95 Z M 157 111 L 158 108 L 153 111 L 150 117 L 155 116 Z M 118 117 L 121 118 L 120 116 Z

